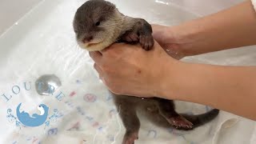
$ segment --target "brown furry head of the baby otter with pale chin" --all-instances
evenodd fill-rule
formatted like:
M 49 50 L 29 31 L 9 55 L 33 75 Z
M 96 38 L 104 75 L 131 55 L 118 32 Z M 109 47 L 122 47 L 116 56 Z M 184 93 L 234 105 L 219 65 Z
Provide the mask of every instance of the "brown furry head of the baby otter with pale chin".
M 102 50 L 113 43 L 120 19 L 114 4 L 104 0 L 90 0 L 74 15 L 74 33 L 78 45 L 86 50 Z

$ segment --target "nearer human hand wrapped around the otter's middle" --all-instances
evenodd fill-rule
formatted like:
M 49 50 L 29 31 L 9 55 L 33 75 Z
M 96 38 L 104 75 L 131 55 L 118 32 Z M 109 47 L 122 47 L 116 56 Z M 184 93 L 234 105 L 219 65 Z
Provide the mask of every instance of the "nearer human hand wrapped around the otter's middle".
M 160 95 L 166 67 L 174 69 L 178 61 L 166 54 L 155 42 L 153 50 L 143 50 L 138 45 L 118 43 L 102 50 L 90 52 L 94 68 L 102 82 L 115 94 L 140 97 Z

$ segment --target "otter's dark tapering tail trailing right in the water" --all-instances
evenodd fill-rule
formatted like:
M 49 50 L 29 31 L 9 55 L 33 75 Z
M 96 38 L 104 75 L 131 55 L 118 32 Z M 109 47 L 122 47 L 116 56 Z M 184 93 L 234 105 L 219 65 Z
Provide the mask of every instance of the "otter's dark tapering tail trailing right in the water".
M 213 109 L 204 114 L 198 114 L 198 115 L 181 114 L 181 115 L 184 118 L 186 118 L 188 121 L 193 123 L 193 128 L 196 128 L 216 118 L 218 116 L 218 113 L 219 113 L 218 109 Z

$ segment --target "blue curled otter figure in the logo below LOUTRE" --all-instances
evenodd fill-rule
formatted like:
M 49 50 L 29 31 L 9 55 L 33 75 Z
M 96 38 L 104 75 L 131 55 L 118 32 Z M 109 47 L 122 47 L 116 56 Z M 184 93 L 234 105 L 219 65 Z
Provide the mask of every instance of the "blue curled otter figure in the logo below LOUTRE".
M 38 110 L 40 111 L 40 114 L 32 114 L 30 116 L 29 113 L 22 111 L 20 112 L 20 107 L 22 106 L 22 103 L 18 104 L 16 108 L 17 118 L 20 122 L 22 122 L 25 126 L 41 126 L 44 122 L 46 122 L 47 116 L 48 116 L 48 110 L 49 107 L 45 104 L 41 104 L 38 106 Z

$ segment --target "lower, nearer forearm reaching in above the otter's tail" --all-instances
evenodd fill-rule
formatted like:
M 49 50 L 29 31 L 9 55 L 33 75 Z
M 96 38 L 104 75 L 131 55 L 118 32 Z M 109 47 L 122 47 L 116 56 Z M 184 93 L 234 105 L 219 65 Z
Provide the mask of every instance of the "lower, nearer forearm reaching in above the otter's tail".
M 256 120 L 255 66 L 181 62 L 166 72 L 160 92 L 164 98 L 201 103 Z

